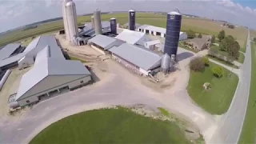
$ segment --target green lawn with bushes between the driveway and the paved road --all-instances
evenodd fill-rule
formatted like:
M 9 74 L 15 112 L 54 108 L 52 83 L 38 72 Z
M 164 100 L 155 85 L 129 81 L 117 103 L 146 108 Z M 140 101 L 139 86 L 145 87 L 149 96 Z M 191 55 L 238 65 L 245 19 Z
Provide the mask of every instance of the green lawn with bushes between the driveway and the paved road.
M 210 62 L 210 66 L 201 72 L 190 71 L 190 81 L 187 87 L 190 98 L 210 114 L 224 114 L 230 107 L 234 92 L 238 85 L 238 76 L 233 74 L 230 78 L 229 70 L 224 70 L 222 78 L 215 78 L 212 68 L 217 66 Z M 211 89 L 204 90 L 203 84 L 210 82 Z

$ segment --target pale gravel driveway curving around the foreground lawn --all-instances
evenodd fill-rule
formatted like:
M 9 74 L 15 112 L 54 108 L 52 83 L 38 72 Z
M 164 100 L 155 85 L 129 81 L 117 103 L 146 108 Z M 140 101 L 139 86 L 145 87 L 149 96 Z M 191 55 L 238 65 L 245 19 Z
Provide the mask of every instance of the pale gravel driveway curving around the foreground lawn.
M 109 70 L 115 73 L 109 74 L 110 78 L 93 86 L 86 86 L 50 98 L 45 102 L 39 102 L 17 121 L 0 118 L 0 143 L 27 143 L 50 123 L 70 114 L 88 110 L 88 107 L 94 109 L 98 106 L 138 103 L 152 107 L 162 106 L 174 113 L 182 114 L 182 117 L 189 118 L 198 126 L 199 130 L 206 135 L 206 141 L 209 141 L 210 136 L 214 134 L 217 128 L 214 117 L 194 105 L 186 93 L 187 78 L 182 78 L 184 82 L 182 86 L 178 86 L 177 90 L 167 89 L 159 93 L 142 85 L 138 78 L 134 78 L 134 75 L 126 69 L 109 67 Z M 181 71 L 181 73 L 184 77 L 189 77 L 189 70 Z

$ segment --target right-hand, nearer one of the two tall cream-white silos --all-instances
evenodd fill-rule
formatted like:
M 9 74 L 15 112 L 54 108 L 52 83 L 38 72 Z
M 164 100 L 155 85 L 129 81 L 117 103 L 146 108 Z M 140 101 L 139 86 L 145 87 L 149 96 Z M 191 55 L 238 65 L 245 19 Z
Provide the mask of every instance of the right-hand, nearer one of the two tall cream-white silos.
M 78 37 L 78 22 L 75 4 L 72 1 L 66 3 L 66 20 L 67 30 L 69 31 L 69 41 L 75 43 L 75 38 Z

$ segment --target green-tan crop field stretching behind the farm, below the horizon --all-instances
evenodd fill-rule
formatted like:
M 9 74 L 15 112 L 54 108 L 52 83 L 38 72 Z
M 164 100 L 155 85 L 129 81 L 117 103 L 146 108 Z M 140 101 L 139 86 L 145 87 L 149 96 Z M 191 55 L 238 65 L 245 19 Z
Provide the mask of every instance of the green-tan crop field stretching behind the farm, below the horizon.
M 128 22 L 128 14 L 102 14 L 102 21 L 108 21 L 110 18 L 117 18 L 118 23 L 124 24 Z M 79 16 L 78 24 L 82 25 L 86 22 L 90 22 L 90 16 Z M 153 13 L 137 13 L 136 22 L 139 24 L 148 24 L 152 26 L 166 27 L 166 15 L 153 14 Z M 246 42 L 247 30 L 242 27 L 236 27 L 234 30 L 223 28 L 221 22 L 213 22 L 202 18 L 182 18 L 182 31 L 194 30 L 197 33 L 216 35 L 222 29 L 226 31 L 226 34 L 230 34 L 237 39 L 239 44 L 243 47 Z M 47 22 L 42 25 L 38 25 L 35 29 L 30 30 L 16 30 L 7 34 L 0 35 L 0 46 L 6 45 L 10 42 L 18 42 L 25 38 L 30 38 L 35 35 L 45 34 L 56 30 L 63 29 L 62 20 Z

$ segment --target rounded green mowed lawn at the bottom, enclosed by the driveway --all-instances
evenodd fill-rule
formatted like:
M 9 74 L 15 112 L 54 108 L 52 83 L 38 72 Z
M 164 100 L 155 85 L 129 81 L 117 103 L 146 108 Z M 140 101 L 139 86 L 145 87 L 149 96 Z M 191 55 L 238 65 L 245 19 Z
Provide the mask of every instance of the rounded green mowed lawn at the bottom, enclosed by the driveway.
M 190 143 L 174 122 L 146 118 L 126 108 L 90 110 L 63 118 L 30 144 Z

